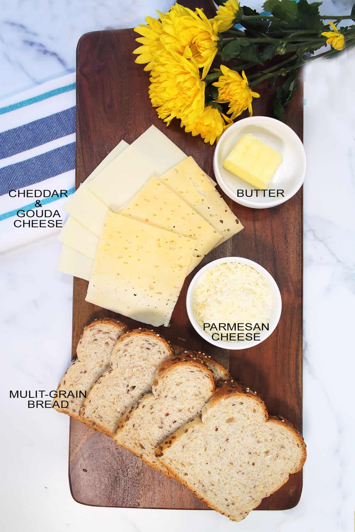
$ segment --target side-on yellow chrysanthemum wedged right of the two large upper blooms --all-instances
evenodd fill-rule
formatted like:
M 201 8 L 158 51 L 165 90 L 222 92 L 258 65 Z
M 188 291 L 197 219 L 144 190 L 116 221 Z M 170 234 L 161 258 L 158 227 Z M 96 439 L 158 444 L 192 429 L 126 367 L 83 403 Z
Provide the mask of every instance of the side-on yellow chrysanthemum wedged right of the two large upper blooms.
M 189 48 L 199 68 L 203 68 L 202 79 L 204 79 L 217 54 L 218 26 L 213 19 L 208 20 L 201 9 L 197 8 L 195 12 L 190 9 L 188 11 L 190 16 L 184 17 L 184 24 L 193 34 Z

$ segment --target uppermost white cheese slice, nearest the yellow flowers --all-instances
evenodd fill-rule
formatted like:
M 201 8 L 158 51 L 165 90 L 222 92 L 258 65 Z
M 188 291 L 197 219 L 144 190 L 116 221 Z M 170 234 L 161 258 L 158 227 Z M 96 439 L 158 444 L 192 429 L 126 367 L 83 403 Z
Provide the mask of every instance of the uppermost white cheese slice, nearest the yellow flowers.
M 151 126 L 88 186 L 110 209 L 120 212 L 148 179 L 154 174 L 160 176 L 183 159 L 185 153 Z

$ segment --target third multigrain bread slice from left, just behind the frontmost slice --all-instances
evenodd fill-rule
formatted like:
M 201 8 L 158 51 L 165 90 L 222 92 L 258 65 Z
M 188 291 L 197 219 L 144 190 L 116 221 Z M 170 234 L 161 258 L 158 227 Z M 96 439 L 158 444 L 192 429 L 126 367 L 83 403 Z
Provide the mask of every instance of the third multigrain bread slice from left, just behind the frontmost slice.
M 162 362 L 152 380 L 152 393 L 119 420 L 114 442 L 167 472 L 155 456 L 155 447 L 200 414 L 214 392 L 214 379 L 228 378 L 228 371 L 218 362 L 195 352 L 185 351 Z

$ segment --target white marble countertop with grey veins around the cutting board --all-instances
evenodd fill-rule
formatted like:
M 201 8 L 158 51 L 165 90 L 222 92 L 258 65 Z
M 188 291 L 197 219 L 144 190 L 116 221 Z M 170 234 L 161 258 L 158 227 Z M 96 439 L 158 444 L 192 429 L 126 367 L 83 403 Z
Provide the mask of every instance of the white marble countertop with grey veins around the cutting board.
M 134 26 L 155 8 L 167 10 L 169 3 L 134 0 L 120 7 L 117 0 L 84 6 L 79 0 L 3 0 L 0 98 L 75 70 L 76 43 L 84 32 Z M 346 13 L 351 3 L 327 0 L 321 11 Z M 232 523 L 216 512 L 93 508 L 71 498 L 69 419 L 9 399 L 9 388 L 55 388 L 70 360 L 72 281 L 56 272 L 60 243 L 48 238 L 1 257 L 4 531 L 353 529 L 354 72 L 354 56 L 343 55 L 313 62 L 305 74 L 303 435 L 308 460 L 298 506 L 252 512 Z

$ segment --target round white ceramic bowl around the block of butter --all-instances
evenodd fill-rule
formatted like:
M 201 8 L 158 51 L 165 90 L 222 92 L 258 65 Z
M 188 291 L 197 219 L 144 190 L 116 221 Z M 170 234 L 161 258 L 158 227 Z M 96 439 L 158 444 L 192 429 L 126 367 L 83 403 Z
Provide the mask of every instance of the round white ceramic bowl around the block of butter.
M 283 156 L 275 176 L 266 189 L 266 197 L 253 192 L 254 187 L 243 179 L 223 168 L 223 163 L 242 135 L 252 134 L 276 149 Z M 269 117 L 250 117 L 235 122 L 220 137 L 213 156 L 213 170 L 223 192 L 233 201 L 253 209 L 267 209 L 280 205 L 298 192 L 306 174 L 306 153 L 295 132 L 283 122 Z M 237 190 L 244 190 L 244 196 L 237 195 Z M 269 197 L 268 190 L 283 190 L 283 196 Z M 274 193 L 273 193 L 274 194 Z M 275 192 L 275 195 L 277 193 Z

